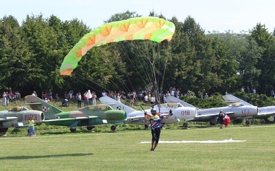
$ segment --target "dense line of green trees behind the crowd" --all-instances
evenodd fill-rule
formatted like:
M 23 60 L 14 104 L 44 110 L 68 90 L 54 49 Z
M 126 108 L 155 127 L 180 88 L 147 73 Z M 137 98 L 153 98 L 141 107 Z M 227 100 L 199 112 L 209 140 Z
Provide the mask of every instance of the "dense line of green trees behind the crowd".
M 134 16 L 126 11 L 109 20 Z M 157 89 L 181 92 L 236 92 L 255 88 L 269 94 L 275 85 L 275 31 L 256 23 L 249 32 L 212 33 L 187 16 L 184 22 L 150 12 L 175 24 L 170 42 L 147 40 L 113 42 L 87 52 L 72 75 L 63 76 L 63 58 L 92 29 L 77 18 L 61 21 L 58 16 L 27 15 L 18 23 L 14 16 L 0 20 L 0 90 L 23 95 L 53 91 L 62 94 L 86 90 Z

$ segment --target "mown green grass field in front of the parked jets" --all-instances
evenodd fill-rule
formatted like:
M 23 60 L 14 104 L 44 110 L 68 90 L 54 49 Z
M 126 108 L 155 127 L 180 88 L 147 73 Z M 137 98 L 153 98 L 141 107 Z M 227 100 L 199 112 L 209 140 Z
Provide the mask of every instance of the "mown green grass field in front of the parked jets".
M 150 130 L 0 137 L 1 170 L 275 170 L 275 125 L 162 130 L 162 141 L 246 140 L 159 144 Z

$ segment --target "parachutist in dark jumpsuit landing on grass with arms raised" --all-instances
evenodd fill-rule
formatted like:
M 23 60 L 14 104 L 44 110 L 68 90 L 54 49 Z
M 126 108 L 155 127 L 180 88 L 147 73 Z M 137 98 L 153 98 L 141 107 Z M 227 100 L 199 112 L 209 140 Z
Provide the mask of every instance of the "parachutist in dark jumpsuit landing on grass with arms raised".
M 157 113 L 157 110 L 152 108 L 151 114 L 147 114 L 147 112 L 144 112 L 144 121 L 147 120 L 151 124 L 151 134 L 152 134 L 152 142 L 151 142 L 151 151 L 155 150 L 157 147 L 157 144 L 159 143 L 159 136 L 162 129 L 162 124 L 160 123 L 163 118 L 169 118 L 172 116 L 172 110 L 170 109 L 169 114 L 167 116 L 163 116 L 159 113 Z

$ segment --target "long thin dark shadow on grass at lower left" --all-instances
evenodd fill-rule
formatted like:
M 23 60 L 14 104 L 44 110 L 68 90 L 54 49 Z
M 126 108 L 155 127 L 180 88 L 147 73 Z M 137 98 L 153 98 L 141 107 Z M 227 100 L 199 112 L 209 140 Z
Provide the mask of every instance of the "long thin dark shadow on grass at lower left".
M 64 155 L 31 155 L 31 156 L 8 156 L 8 157 L 0 157 L 1 159 L 38 159 L 38 158 L 50 158 L 50 157 L 78 157 L 85 155 L 94 155 L 94 153 L 72 153 L 72 154 L 64 154 Z

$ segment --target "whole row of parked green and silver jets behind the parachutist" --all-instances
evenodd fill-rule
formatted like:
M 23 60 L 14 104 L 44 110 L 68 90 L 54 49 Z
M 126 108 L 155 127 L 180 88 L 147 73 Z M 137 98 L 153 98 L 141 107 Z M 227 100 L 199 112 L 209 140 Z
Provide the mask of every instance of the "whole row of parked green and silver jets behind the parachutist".
M 221 110 L 230 116 L 231 120 L 243 118 L 274 120 L 275 106 L 256 107 L 231 94 L 226 94 L 223 99 L 228 106 L 199 109 L 179 98 L 167 96 L 166 103 L 155 105 L 154 108 L 164 115 L 168 114 L 170 109 L 173 111 L 173 116 L 162 120 L 163 124 L 185 120 L 186 122 L 210 122 L 214 125 Z M 9 127 L 28 127 L 30 119 L 34 119 L 36 124 L 44 122 L 47 125 L 67 126 L 72 132 L 75 132 L 77 127 L 87 127 L 91 130 L 97 124 L 113 124 L 112 131 L 115 131 L 116 126 L 122 123 L 144 124 L 145 127 L 149 125 L 148 122 L 144 122 L 144 112 L 149 112 L 150 109 L 135 110 L 108 96 L 100 98 L 102 103 L 100 105 L 89 105 L 76 111 L 62 111 L 32 95 L 25 96 L 25 100 L 32 110 L 18 106 L 0 111 L 1 134 L 4 135 Z

